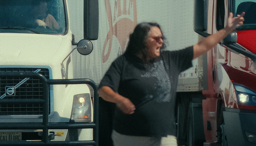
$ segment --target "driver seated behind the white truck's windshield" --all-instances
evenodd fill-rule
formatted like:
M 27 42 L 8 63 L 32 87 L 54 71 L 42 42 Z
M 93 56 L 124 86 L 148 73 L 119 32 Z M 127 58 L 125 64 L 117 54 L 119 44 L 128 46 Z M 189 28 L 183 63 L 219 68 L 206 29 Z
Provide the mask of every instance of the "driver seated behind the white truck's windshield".
M 35 6 L 32 9 L 32 15 L 38 26 L 55 30 L 60 29 L 56 19 L 52 15 L 48 14 L 46 1 L 35 1 Z

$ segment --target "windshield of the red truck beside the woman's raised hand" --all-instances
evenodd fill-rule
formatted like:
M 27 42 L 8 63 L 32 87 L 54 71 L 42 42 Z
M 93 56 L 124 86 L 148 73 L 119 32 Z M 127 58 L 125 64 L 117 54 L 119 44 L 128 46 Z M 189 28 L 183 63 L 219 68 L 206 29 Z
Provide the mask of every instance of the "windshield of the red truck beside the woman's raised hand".
M 256 30 L 256 0 L 235 0 L 233 12 L 234 16 L 245 12 L 244 24 L 237 30 Z

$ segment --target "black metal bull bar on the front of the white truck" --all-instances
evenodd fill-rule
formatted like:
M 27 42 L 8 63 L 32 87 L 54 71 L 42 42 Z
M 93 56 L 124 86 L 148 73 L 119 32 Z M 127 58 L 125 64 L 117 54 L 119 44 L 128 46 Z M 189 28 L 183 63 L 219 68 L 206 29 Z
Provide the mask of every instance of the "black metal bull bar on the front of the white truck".
M 98 132 L 99 132 L 99 98 L 97 93 L 97 87 L 94 81 L 89 79 L 46 79 L 39 73 L 0 73 L 0 77 L 37 77 L 43 81 L 44 87 L 44 99 L 1 99 L 0 103 L 42 103 L 43 115 L 42 123 L 0 123 L 1 130 L 15 130 L 15 129 L 42 129 L 42 141 L 18 141 L 18 142 L 0 142 L 0 145 L 4 146 L 98 146 Z M 94 122 L 85 123 L 49 123 L 49 85 L 60 84 L 89 84 L 94 89 Z M 49 141 L 48 130 L 49 129 L 83 129 L 93 128 L 93 141 Z

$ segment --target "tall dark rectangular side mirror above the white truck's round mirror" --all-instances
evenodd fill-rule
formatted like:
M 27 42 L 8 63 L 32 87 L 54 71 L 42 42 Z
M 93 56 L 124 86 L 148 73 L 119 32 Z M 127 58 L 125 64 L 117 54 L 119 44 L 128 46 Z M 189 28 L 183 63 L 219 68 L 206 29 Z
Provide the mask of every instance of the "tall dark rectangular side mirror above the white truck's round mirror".
M 84 39 L 96 40 L 99 32 L 99 2 L 84 0 Z

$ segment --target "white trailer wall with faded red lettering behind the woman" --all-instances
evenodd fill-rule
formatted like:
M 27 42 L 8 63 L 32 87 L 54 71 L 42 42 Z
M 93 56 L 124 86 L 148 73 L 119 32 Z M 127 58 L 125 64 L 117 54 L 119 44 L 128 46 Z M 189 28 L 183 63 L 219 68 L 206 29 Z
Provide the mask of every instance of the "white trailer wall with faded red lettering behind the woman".
M 83 39 L 83 0 L 68 0 L 68 6 L 70 29 L 78 42 Z M 167 50 L 182 49 L 198 41 L 198 35 L 193 31 L 193 0 L 99 0 L 99 38 L 92 41 L 94 49 L 91 54 L 72 53 L 74 78 L 89 78 L 99 83 L 117 58 L 118 51 L 124 52 L 129 34 L 140 22 L 160 24 Z M 105 40 L 108 40 L 106 47 L 103 46 Z

